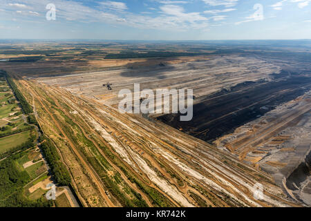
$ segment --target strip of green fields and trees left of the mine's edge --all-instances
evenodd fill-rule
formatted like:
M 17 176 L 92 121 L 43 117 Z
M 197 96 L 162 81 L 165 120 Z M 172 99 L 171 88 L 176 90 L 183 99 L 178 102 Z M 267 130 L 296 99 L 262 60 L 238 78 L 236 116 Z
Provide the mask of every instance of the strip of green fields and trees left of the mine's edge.
M 11 82 L 15 86 L 13 83 Z M 44 180 L 48 171 L 42 161 L 23 168 L 26 162 L 39 160 L 39 153 L 33 148 L 30 149 L 35 146 L 36 131 L 33 126 L 24 122 L 19 107 L 21 105 L 30 109 L 30 106 L 16 86 L 15 90 L 15 94 L 19 94 L 20 104 L 0 73 L 0 155 L 3 158 L 0 162 L 0 207 L 52 206 L 53 202 L 48 202 L 44 197 L 46 191 L 43 189 L 31 194 L 28 191 L 33 185 L 32 181 L 37 183 Z M 29 112 L 28 109 L 26 111 Z M 41 177 L 34 181 L 39 175 Z

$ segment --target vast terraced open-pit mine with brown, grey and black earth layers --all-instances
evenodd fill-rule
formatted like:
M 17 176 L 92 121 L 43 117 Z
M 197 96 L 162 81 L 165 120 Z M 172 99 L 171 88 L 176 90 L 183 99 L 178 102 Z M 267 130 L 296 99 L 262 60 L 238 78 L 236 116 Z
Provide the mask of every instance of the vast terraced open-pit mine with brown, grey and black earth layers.
M 0 69 L 80 206 L 310 206 L 310 53 L 195 47 L 44 42 L 17 57 L 0 46 Z M 118 93 L 134 84 L 192 89 L 193 119 L 120 113 Z

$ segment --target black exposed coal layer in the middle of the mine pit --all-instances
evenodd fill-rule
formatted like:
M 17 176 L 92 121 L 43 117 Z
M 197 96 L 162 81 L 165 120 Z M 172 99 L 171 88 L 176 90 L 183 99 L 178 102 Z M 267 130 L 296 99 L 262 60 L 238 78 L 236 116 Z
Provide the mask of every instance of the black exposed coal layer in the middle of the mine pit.
M 211 142 L 221 135 L 271 111 L 275 106 L 303 95 L 310 88 L 310 77 L 288 77 L 274 81 L 244 82 L 207 96 L 194 105 L 194 117 L 180 122 L 180 114 L 158 117 L 161 122 L 189 135 Z

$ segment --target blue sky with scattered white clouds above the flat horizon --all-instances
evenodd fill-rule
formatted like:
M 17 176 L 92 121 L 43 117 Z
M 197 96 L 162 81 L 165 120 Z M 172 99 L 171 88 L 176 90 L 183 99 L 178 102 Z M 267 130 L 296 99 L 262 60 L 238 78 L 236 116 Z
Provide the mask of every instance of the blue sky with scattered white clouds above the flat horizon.
M 0 0 L 0 39 L 311 39 L 311 0 Z

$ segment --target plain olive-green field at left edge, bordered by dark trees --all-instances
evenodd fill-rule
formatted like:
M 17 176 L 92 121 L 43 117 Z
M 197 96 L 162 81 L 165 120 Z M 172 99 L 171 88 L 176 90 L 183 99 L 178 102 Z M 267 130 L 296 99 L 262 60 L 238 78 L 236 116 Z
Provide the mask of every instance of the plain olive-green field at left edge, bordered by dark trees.
M 30 132 L 31 131 L 24 131 L 22 133 L 0 138 L 0 153 L 6 152 L 10 148 L 26 142 L 30 137 Z

